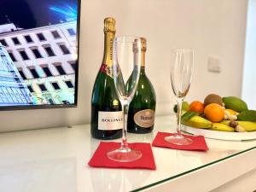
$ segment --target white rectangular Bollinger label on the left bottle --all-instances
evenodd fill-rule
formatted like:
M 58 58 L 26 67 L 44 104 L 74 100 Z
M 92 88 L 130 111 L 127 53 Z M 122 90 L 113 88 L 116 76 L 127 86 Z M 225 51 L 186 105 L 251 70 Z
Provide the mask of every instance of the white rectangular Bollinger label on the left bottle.
M 123 129 L 122 111 L 99 111 L 98 129 L 99 130 L 120 130 Z

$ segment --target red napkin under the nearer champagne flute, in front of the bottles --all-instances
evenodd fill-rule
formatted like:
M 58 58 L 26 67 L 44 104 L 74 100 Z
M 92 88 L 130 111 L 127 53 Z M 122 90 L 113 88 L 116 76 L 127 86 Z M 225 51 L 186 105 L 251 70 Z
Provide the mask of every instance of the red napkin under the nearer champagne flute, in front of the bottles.
M 120 143 L 114 142 L 101 142 L 96 149 L 88 165 L 95 167 L 108 167 L 108 168 L 135 168 L 135 169 L 152 169 L 155 170 L 154 156 L 150 143 L 129 143 L 129 147 L 143 153 L 143 156 L 132 162 L 117 162 L 109 160 L 107 153 L 113 149 L 120 147 Z

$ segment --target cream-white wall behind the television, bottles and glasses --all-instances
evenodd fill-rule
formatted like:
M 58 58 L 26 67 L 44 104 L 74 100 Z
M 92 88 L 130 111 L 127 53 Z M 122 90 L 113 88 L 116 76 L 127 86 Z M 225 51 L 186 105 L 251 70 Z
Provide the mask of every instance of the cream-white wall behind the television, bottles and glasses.
M 117 35 L 148 39 L 147 73 L 157 96 L 157 114 L 172 113 L 170 51 L 195 49 L 189 101 L 210 92 L 241 95 L 247 0 L 82 0 L 79 106 L 0 113 L 0 130 L 42 128 L 90 122 L 90 96 L 102 62 L 103 19 L 117 20 Z M 221 73 L 207 72 L 207 56 L 222 61 Z

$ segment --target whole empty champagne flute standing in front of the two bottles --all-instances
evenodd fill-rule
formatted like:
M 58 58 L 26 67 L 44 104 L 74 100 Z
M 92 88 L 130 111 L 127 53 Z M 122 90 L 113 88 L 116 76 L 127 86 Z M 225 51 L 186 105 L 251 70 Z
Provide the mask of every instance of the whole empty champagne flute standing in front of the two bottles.
M 141 47 L 141 39 L 136 37 L 117 37 L 113 41 L 113 81 L 124 112 L 124 127 L 120 148 L 109 151 L 107 154 L 110 160 L 131 162 L 140 159 L 143 155 L 140 151 L 128 146 L 126 137 L 129 103 L 137 90 L 140 74 Z

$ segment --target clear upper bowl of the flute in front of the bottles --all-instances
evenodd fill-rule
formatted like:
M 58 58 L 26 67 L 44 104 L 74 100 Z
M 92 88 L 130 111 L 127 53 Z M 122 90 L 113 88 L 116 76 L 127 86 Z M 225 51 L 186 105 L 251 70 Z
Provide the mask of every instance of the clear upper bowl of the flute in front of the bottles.
M 131 102 L 139 79 L 140 38 L 117 37 L 113 43 L 113 80 L 120 101 Z M 132 89 L 128 89 L 126 83 Z

